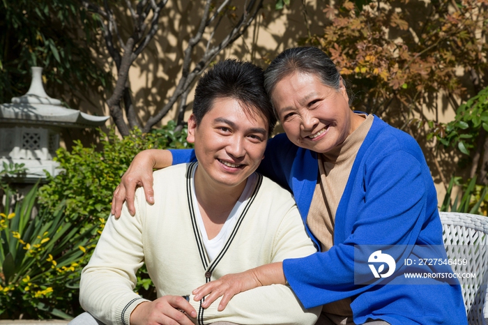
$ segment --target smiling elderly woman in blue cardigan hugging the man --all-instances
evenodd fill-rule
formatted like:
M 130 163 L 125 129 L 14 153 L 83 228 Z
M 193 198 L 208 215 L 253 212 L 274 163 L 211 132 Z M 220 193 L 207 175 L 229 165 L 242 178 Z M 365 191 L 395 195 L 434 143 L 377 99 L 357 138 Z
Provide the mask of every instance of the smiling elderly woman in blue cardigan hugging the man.
M 436 190 L 415 140 L 377 116 L 353 112 L 337 68 L 317 48 L 285 50 L 265 76 L 286 135 L 268 141 L 258 170 L 293 192 L 319 252 L 227 275 L 196 289 L 195 298 L 206 296 L 206 307 L 223 295 L 222 310 L 238 292 L 287 283 L 305 308 L 323 305 L 320 324 L 466 324 L 457 281 L 405 280 L 404 261 L 425 257 L 425 247 L 429 257 L 446 258 L 437 249 L 443 241 Z M 119 214 L 125 197 L 133 210 L 136 185 L 153 200 L 152 167 L 190 160 L 192 151 L 139 153 L 112 212 Z M 387 248 L 390 259 L 375 260 Z M 374 262 L 386 262 L 388 272 Z M 413 270 L 451 272 L 448 265 L 420 264 Z

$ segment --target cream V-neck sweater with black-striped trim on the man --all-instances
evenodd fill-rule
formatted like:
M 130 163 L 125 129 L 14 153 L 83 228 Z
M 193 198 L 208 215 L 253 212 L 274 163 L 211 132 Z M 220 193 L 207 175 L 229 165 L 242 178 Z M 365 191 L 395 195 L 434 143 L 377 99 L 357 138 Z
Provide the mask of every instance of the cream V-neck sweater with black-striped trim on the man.
M 315 252 L 289 192 L 259 175 L 224 248 L 210 262 L 191 202 L 192 168 L 195 164 L 154 172 L 155 204 L 147 204 L 139 189 L 135 217 L 124 206 L 119 220 L 107 221 L 80 283 L 82 307 L 102 322 L 129 324 L 130 313 L 144 301 L 132 291 L 143 262 L 158 297 L 184 296 L 227 273 Z M 320 312 L 304 310 L 285 285 L 242 292 L 222 312 L 218 301 L 205 310 L 192 296 L 190 303 L 198 313 L 195 324 L 314 324 Z

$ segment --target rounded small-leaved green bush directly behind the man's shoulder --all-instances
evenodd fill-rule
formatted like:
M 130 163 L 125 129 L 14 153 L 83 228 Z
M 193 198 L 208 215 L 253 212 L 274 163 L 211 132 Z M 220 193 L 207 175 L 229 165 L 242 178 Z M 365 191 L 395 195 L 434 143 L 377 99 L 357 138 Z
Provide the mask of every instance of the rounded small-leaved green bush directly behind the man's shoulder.
M 49 211 L 49 215 L 54 216 L 56 204 L 65 202 L 65 222 L 75 224 L 80 232 L 98 229 L 93 234 L 95 243 L 109 216 L 112 192 L 119 184 L 132 158 L 144 149 L 190 147 L 186 142 L 186 128 L 182 130 L 175 130 L 175 128 L 176 123 L 171 121 L 167 126 L 147 134 L 134 130 L 123 139 L 119 139 L 112 129 L 107 138 L 100 141 L 100 150 L 95 146 L 85 147 L 79 141 L 75 142 L 71 151 L 59 149 L 55 160 L 59 162 L 62 172 L 55 177 L 47 176 L 48 183 L 39 190 L 41 206 Z M 88 262 L 94 245 L 87 245 L 85 248 L 85 259 L 79 262 L 79 266 L 71 269 L 71 276 L 76 281 L 72 281 L 70 290 L 64 292 L 63 296 L 56 293 L 58 298 L 70 300 L 73 305 L 78 304 L 79 273 Z M 152 282 L 144 268 L 139 271 L 137 279 L 137 292 L 146 298 L 153 298 Z M 49 303 L 53 303 L 51 307 L 56 305 L 52 301 Z M 74 314 L 70 315 L 74 316 L 78 311 L 73 309 L 73 312 Z M 61 314 L 57 316 L 63 317 Z M 64 318 L 66 317 L 68 316 Z

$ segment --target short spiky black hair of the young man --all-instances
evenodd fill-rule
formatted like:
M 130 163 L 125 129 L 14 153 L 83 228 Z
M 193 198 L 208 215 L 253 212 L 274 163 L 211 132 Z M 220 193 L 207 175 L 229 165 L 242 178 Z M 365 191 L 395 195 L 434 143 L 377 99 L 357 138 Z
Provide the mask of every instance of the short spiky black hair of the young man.
M 260 114 L 268 122 L 268 135 L 273 132 L 276 117 L 266 91 L 264 73 L 250 62 L 227 59 L 215 64 L 200 78 L 195 89 L 193 114 L 197 125 L 212 108 L 215 98 L 234 98 L 246 113 Z

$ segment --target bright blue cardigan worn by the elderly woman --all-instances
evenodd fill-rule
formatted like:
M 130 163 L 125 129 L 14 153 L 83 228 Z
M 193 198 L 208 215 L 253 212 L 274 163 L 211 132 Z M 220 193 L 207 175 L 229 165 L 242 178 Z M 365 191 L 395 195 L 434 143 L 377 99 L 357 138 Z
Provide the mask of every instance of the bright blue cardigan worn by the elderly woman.
M 193 151 L 171 153 L 174 164 L 195 160 Z M 320 248 L 306 224 L 319 173 L 317 153 L 292 144 L 284 134 L 276 135 L 268 141 L 259 172 L 293 192 L 307 232 Z M 337 207 L 333 247 L 284 260 L 284 275 L 305 308 L 350 297 L 356 324 L 367 319 L 390 324 L 467 324 L 457 280 L 448 284 L 422 279 L 412 284 L 397 276 L 355 285 L 355 275 L 367 269 L 367 263 L 363 269 L 354 263 L 355 253 L 356 261 L 365 258 L 358 257 L 357 248 L 363 246 L 355 245 L 395 245 L 399 275 L 412 271 L 404 265 L 406 258 L 425 256 L 421 252 L 425 246 L 418 245 L 429 245 L 436 250 L 435 257 L 446 258 L 436 190 L 422 151 L 415 139 L 376 116 Z M 414 270 L 451 272 L 448 265 Z

